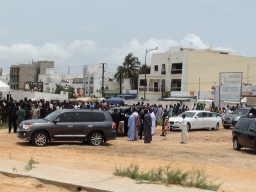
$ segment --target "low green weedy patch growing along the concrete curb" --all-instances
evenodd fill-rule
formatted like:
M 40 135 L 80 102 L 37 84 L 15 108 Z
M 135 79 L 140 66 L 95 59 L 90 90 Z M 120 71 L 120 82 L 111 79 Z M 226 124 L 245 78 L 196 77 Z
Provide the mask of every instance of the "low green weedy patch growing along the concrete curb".
M 137 164 L 131 164 L 129 167 L 122 169 L 115 167 L 113 175 L 126 176 L 131 179 L 139 181 L 139 183 L 162 183 L 162 184 L 181 184 L 187 187 L 196 187 L 207 190 L 218 190 L 222 183 L 215 183 L 215 180 L 209 179 L 205 174 L 203 168 L 191 169 L 187 172 L 181 168 L 166 168 L 159 167 L 158 169 L 151 169 L 149 172 L 139 172 Z M 146 182 L 147 181 L 147 182 Z

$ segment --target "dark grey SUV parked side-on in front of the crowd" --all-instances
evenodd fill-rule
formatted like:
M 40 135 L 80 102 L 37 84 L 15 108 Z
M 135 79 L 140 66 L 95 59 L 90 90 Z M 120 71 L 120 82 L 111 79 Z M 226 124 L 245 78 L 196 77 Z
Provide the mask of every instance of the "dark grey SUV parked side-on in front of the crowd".
M 24 120 L 17 137 L 45 146 L 48 141 L 83 141 L 101 145 L 116 139 L 116 124 L 109 111 L 97 109 L 65 109 L 54 111 L 43 119 Z

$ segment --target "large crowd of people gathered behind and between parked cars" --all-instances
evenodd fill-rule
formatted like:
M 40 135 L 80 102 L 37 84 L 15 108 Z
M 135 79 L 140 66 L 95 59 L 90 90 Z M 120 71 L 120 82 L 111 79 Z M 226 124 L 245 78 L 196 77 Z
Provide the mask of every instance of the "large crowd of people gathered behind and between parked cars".
M 144 104 L 144 102 L 138 102 L 137 104 L 132 104 L 128 114 L 123 111 L 123 106 L 127 106 L 125 102 L 120 102 L 117 104 L 120 106 L 120 111 L 117 109 L 113 110 L 112 118 L 113 122 L 117 125 L 117 136 L 124 137 L 125 127 L 127 127 L 126 133 L 130 141 L 144 139 L 144 143 L 151 143 L 152 136 L 155 134 L 155 128 L 157 125 L 162 126 L 162 134 L 160 136 L 165 137 L 168 140 L 168 133 L 170 131 L 169 127 L 169 117 L 177 116 L 184 111 L 190 110 L 188 105 L 182 104 L 182 102 L 177 102 L 172 105 L 162 105 L 150 103 Z M 0 101 L 1 110 L 1 120 L 6 122 L 8 119 L 9 133 L 13 126 L 13 132 L 16 133 L 17 125 L 23 120 L 27 119 L 40 119 L 45 118 L 49 113 L 60 110 L 60 109 L 101 109 L 110 110 L 115 107 L 113 103 L 106 103 L 105 100 L 102 102 L 78 102 L 78 101 L 63 101 L 63 102 L 49 102 L 40 99 L 39 101 L 32 101 L 31 99 L 24 98 L 24 100 L 7 102 L 6 100 Z M 194 103 L 191 110 L 204 110 L 204 103 Z M 226 108 L 217 108 L 210 105 L 212 112 L 218 112 L 225 115 L 236 110 L 237 108 L 243 107 L 242 104 L 230 109 L 229 105 Z M 8 118 L 7 118 L 8 117 Z M 184 125 L 182 125 L 184 126 Z M 184 133 L 187 138 L 187 133 Z M 186 140 L 186 139 L 185 139 Z M 184 140 L 182 139 L 182 142 Z

